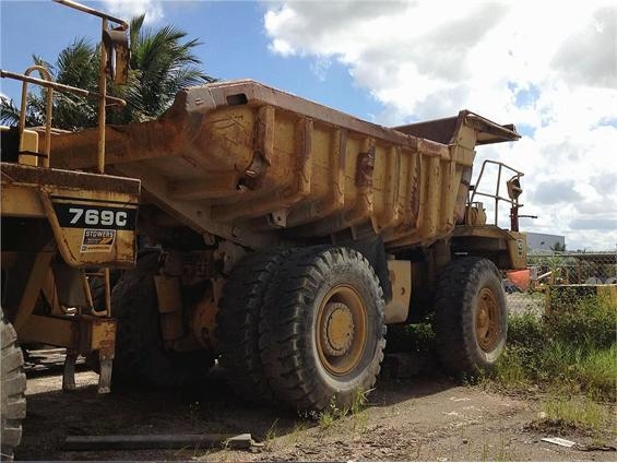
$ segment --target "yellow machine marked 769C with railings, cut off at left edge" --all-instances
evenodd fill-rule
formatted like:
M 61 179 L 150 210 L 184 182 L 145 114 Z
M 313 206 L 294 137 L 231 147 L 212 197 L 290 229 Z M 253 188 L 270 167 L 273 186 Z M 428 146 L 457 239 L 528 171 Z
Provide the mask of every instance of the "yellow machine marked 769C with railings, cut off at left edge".
M 21 440 L 26 380 L 17 344 L 67 348 L 62 388 L 75 388 L 78 355 L 96 355 L 98 392 L 109 392 L 116 321 L 111 318 L 109 268 L 135 262 L 135 227 L 140 181 L 104 174 L 105 104 L 123 104 L 106 95 L 106 72 L 126 78 L 127 23 L 67 0 L 57 0 L 103 19 L 100 91 L 97 94 L 51 81 L 45 68 L 24 74 L 0 71 L 23 82 L 19 127 L 2 127 L 2 459 L 10 459 Z M 108 21 L 117 23 L 112 34 Z M 123 37 L 123 38 L 122 38 Z M 108 60 L 107 57 L 112 57 Z M 38 71 L 43 79 L 31 74 Z M 47 92 L 47 124 L 25 128 L 28 83 Z M 93 171 L 52 168 L 50 139 L 54 92 L 72 92 L 99 100 L 99 143 Z M 39 139 L 44 142 L 40 143 Z M 97 276 L 106 290 L 93 301 L 88 278 Z M 106 296 L 106 297 L 105 297 Z

